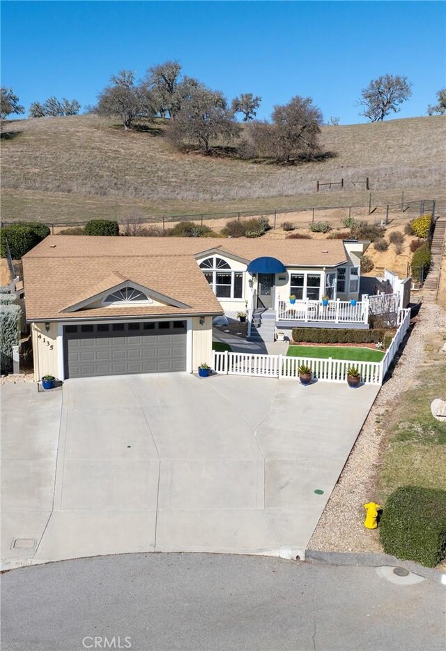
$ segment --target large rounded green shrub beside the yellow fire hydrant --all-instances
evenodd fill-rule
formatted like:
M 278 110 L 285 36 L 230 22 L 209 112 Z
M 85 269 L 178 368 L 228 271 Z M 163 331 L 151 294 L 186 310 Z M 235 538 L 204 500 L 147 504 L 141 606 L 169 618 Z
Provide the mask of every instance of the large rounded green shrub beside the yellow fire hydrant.
M 446 491 L 400 486 L 387 498 L 379 533 L 385 553 L 435 567 L 446 555 Z

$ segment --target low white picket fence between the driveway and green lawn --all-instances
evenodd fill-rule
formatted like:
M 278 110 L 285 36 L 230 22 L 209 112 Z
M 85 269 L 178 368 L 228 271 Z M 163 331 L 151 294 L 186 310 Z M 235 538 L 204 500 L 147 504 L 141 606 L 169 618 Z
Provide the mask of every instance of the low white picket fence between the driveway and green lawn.
M 346 382 L 349 366 L 357 366 L 362 382 L 383 384 L 385 374 L 410 324 L 410 310 L 401 310 L 399 328 L 381 361 L 353 361 L 321 359 L 318 357 L 287 357 L 286 355 L 259 355 L 249 352 L 213 352 L 213 370 L 225 375 L 252 375 L 295 380 L 300 364 L 308 364 L 313 377 L 323 382 Z

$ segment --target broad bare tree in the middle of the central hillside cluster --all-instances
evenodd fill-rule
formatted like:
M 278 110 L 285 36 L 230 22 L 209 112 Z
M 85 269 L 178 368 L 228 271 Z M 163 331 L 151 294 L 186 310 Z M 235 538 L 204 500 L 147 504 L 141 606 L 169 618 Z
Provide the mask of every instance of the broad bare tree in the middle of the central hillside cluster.
M 183 92 L 170 137 L 177 145 L 198 142 L 208 154 L 212 140 L 231 142 L 240 133 L 240 126 L 220 91 L 210 90 L 196 80 L 186 81 L 187 93 Z

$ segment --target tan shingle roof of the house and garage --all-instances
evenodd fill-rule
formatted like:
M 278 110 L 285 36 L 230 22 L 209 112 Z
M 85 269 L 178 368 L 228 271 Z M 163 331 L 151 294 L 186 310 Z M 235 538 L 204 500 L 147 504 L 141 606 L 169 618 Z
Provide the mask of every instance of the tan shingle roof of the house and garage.
M 195 257 L 221 250 L 247 262 L 262 255 L 287 266 L 332 267 L 346 261 L 341 240 L 218 239 L 194 237 L 93 237 L 50 235 L 23 258 L 26 318 L 141 314 L 222 313 Z M 191 308 L 103 307 L 63 312 L 116 287 L 123 280 L 147 287 Z

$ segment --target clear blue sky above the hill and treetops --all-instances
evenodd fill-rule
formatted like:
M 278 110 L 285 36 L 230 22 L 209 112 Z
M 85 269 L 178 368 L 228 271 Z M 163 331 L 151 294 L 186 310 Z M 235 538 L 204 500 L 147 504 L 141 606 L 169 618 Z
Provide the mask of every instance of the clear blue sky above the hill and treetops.
M 177 59 L 229 100 L 260 95 L 258 117 L 302 95 L 351 124 L 365 121 L 361 89 L 391 73 L 413 82 L 395 117 L 413 117 L 446 84 L 445 14 L 430 1 L 3 1 L 1 85 L 26 109 L 51 95 L 93 104 L 121 68 Z

